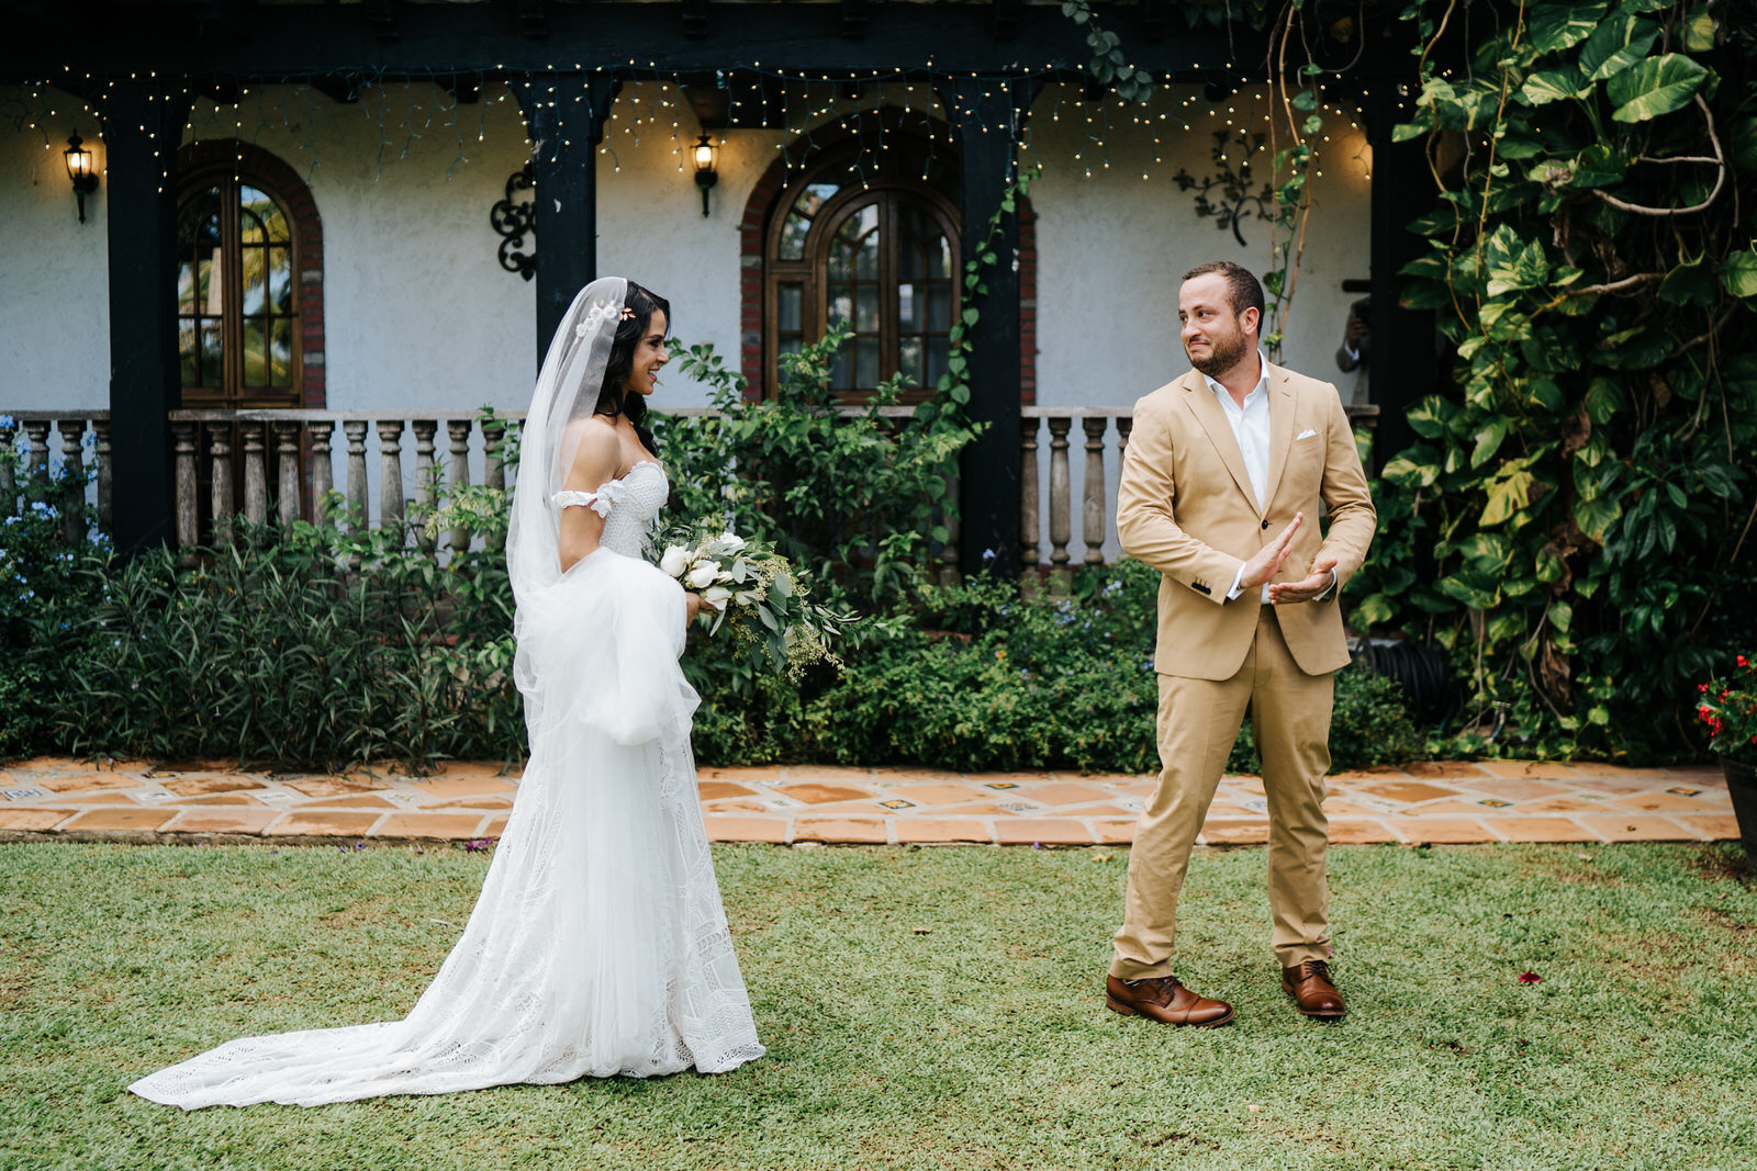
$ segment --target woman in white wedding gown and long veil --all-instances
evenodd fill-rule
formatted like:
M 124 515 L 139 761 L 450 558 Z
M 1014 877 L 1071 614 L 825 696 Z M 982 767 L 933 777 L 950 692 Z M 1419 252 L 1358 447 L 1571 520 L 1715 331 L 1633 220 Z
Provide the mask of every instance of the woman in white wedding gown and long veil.
M 184 1110 L 724 1073 L 763 1055 L 696 797 L 699 606 L 641 560 L 669 305 L 575 298 L 524 428 L 506 560 L 531 762 L 464 938 L 399 1022 L 230 1041 L 128 1088 Z

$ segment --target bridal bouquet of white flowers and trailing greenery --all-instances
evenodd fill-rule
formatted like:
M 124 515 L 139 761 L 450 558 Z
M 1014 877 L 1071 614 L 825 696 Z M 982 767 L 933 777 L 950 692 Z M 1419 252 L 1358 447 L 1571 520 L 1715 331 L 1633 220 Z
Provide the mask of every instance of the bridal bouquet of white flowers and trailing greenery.
M 734 646 L 789 679 L 819 662 L 842 667 L 829 644 L 854 614 L 812 602 L 806 583 L 780 553 L 734 532 L 673 534 L 659 569 L 715 611 L 710 632 L 724 627 Z

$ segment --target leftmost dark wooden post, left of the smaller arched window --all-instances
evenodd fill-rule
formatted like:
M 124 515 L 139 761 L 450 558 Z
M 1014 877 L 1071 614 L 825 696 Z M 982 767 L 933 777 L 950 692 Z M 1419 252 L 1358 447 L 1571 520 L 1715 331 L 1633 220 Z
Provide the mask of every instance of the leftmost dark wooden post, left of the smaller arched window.
M 169 411 L 177 377 L 176 151 L 188 98 L 144 81 L 107 86 L 100 104 L 109 221 L 111 439 L 116 548 L 176 535 Z

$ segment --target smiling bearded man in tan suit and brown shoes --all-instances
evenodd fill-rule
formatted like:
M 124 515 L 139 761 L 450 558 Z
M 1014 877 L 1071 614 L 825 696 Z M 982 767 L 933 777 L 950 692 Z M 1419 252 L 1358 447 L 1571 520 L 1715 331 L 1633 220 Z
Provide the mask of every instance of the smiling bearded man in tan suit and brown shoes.
M 1376 514 L 1335 386 L 1258 349 L 1263 290 L 1240 265 L 1184 274 L 1195 367 L 1135 404 L 1116 527 L 1160 581 L 1160 783 L 1140 813 L 1105 1002 L 1172 1025 L 1225 1025 L 1232 1006 L 1172 974 L 1177 892 L 1246 709 L 1269 797 L 1269 904 L 1281 987 L 1341 1017 L 1325 880 L 1332 676 L 1348 664 L 1335 595 Z M 1328 534 L 1320 516 L 1328 509 Z

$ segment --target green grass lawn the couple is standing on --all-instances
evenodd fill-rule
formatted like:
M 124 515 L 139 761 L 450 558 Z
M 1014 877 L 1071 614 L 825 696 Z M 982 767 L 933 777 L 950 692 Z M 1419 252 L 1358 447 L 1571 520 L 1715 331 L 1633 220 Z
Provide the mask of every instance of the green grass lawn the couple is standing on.
M 715 857 L 754 1066 L 184 1115 L 123 1087 L 401 1017 L 487 860 L 0 846 L 0 1167 L 1757 1167 L 1731 843 L 1334 850 L 1335 1025 L 1281 994 L 1263 851 L 1202 850 L 1181 974 L 1237 1006 L 1212 1031 L 1103 1008 L 1123 850 Z

